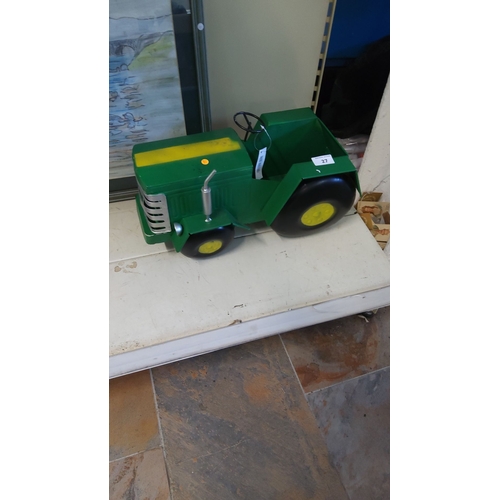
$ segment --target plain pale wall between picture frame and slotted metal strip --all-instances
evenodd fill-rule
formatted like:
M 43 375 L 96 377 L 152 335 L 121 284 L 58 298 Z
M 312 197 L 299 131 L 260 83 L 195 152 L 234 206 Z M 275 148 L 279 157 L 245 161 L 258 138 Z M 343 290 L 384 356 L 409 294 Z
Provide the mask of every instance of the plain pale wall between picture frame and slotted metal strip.
M 311 106 L 328 4 L 204 0 L 212 128 L 235 128 L 238 111 Z

